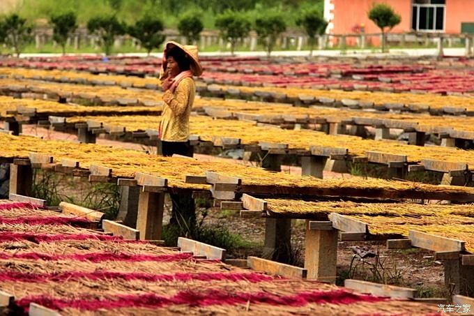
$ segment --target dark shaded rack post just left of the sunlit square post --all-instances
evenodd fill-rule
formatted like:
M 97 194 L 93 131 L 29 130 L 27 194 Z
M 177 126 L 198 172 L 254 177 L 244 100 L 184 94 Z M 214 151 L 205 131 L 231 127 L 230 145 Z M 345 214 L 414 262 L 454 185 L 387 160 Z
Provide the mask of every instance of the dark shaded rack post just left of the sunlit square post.
M 291 219 L 266 218 L 263 257 L 288 263 L 291 253 Z

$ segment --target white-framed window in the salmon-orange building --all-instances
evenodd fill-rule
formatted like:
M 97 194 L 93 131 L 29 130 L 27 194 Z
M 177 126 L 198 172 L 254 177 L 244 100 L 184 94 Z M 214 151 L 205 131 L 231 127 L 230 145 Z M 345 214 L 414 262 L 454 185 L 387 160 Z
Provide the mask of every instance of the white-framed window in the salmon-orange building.
M 444 31 L 446 0 L 413 0 L 411 28 Z

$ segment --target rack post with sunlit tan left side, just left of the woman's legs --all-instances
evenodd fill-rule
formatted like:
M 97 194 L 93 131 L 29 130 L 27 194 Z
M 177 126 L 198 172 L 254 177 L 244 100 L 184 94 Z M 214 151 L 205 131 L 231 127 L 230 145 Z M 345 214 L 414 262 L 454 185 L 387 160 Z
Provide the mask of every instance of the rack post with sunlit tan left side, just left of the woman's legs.
M 137 230 L 142 240 L 161 239 L 165 193 L 140 192 Z

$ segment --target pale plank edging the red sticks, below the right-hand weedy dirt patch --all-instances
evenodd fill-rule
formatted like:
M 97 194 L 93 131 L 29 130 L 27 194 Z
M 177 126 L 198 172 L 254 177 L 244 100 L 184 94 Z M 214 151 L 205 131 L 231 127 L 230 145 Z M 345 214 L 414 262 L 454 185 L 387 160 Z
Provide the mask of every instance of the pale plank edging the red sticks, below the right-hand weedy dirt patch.
M 394 285 L 385 285 L 361 280 L 344 280 L 344 287 L 353 289 L 365 294 L 378 296 L 389 296 L 392 299 L 414 299 L 417 296 L 416 289 L 408 287 L 396 287 Z

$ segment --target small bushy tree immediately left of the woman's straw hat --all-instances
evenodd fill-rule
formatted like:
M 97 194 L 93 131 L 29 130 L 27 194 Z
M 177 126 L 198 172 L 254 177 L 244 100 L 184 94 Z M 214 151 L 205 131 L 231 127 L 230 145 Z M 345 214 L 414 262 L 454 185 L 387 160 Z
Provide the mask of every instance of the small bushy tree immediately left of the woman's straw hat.
M 148 55 L 153 48 L 158 48 L 165 41 L 163 23 L 156 17 L 146 15 L 128 29 L 128 33 L 139 40 Z

